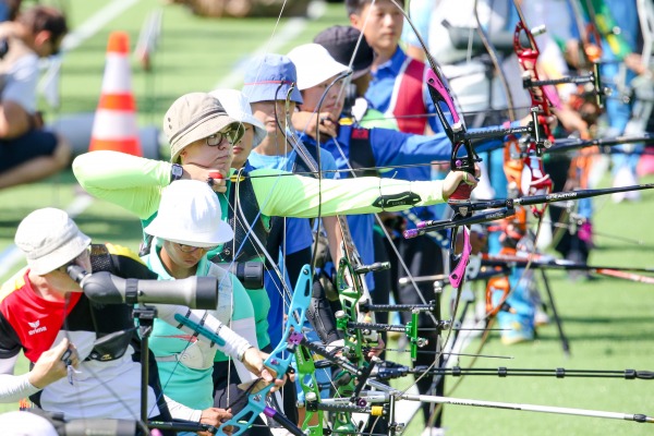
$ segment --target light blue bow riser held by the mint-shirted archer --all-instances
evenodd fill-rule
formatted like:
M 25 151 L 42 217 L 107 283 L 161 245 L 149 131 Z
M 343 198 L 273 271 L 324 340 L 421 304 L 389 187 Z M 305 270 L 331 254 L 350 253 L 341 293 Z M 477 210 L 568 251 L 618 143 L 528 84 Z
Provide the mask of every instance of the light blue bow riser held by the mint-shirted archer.
M 286 322 L 281 341 L 264 362 L 266 367 L 275 371 L 278 379 L 282 379 L 284 377 L 293 358 L 293 353 L 289 352 L 289 337 L 293 332 L 301 332 L 302 326 L 306 320 L 306 310 L 308 307 L 312 294 L 311 282 L 311 269 L 308 266 L 305 266 L 300 274 L 298 283 L 295 284 L 295 290 L 293 292 L 293 299 L 290 303 L 289 315 Z M 245 408 L 243 408 L 243 410 L 237 415 L 232 416 L 231 420 L 222 424 L 220 426 L 220 431 L 225 431 L 226 427 L 231 426 L 232 435 L 238 436 L 252 425 L 259 413 L 265 413 L 267 416 L 287 427 L 288 423 L 284 422 L 284 420 L 288 421 L 288 419 L 280 417 L 279 412 L 266 405 L 266 397 L 274 386 L 275 384 L 271 383 L 255 393 L 249 393 L 247 405 L 245 405 Z M 296 427 L 287 427 L 287 429 L 293 434 L 298 434 L 299 431 Z

